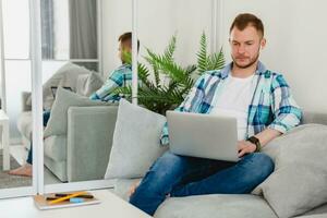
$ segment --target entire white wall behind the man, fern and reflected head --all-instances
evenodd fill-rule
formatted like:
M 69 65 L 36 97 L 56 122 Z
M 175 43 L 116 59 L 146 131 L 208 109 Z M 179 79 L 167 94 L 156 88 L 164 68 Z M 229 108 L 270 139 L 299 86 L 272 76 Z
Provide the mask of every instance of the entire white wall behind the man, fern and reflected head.
M 132 26 L 130 1 L 104 1 L 104 70 L 117 65 L 117 38 Z M 298 104 L 305 110 L 327 112 L 327 1 L 325 0 L 220 0 L 219 37 L 229 58 L 229 26 L 241 12 L 257 14 L 266 28 L 267 46 L 261 60 L 281 72 Z M 142 46 L 162 51 L 178 33 L 177 60 L 194 62 L 202 31 L 210 35 L 211 0 L 140 0 L 138 35 Z M 218 45 L 219 46 L 219 45 Z M 144 50 L 141 50 L 144 55 Z

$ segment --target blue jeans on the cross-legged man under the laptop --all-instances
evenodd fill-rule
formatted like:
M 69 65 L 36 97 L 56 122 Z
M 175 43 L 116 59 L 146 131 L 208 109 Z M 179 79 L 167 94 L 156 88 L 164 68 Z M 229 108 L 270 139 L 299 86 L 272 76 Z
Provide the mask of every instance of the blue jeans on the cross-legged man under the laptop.
M 245 194 L 274 170 L 270 157 L 262 153 L 244 156 L 238 162 L 185 157 L 165 153 L 150 167 L 130 203 L 154 215 L 170 196 L 201 194 Z

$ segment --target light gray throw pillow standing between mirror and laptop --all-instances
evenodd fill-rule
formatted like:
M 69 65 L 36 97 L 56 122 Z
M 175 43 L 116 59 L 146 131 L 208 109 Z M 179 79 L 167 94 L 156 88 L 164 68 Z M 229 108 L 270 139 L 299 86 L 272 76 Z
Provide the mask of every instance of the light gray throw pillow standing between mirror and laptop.
M 121 99 L 105 179 L 143 177 L 167 149 L 159 136 L 164 116 Z

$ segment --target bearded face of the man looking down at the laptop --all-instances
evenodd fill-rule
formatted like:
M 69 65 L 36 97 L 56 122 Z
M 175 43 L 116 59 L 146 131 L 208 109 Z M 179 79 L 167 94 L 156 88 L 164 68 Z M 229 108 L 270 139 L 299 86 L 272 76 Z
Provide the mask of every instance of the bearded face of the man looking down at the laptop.
M 259 57 L 259 49 L 266 44 L 262 34 L 251 25 L 243 31 L 234 27 L 230 33 L 229 40 L 233 63 L 241 69 L 246 69 L 256 63 Z

